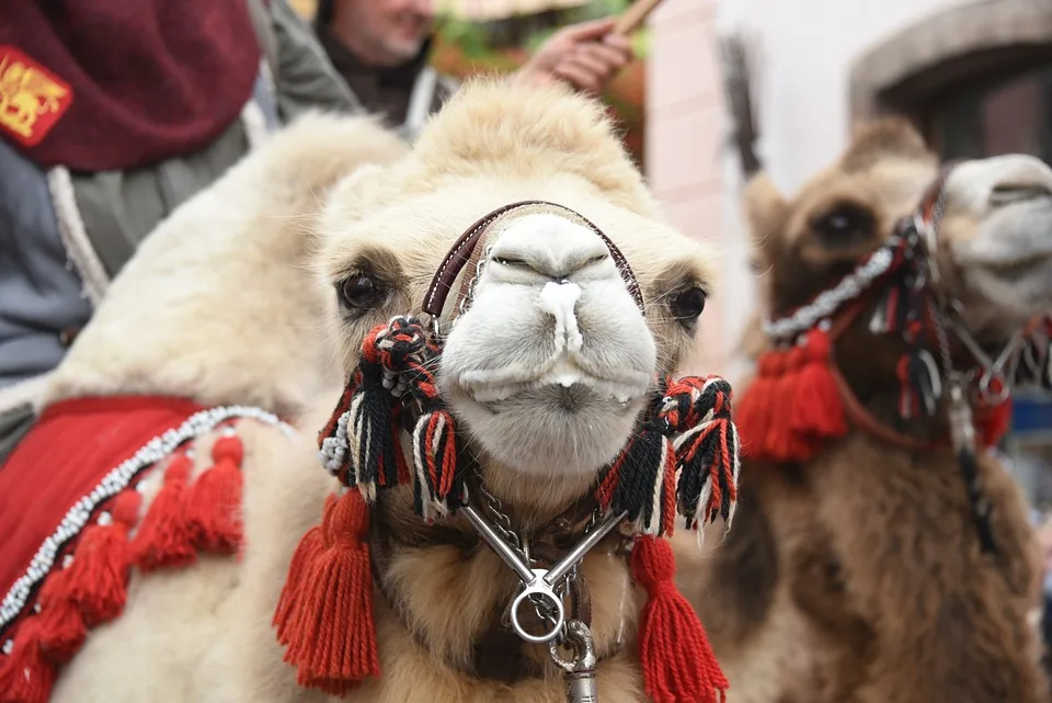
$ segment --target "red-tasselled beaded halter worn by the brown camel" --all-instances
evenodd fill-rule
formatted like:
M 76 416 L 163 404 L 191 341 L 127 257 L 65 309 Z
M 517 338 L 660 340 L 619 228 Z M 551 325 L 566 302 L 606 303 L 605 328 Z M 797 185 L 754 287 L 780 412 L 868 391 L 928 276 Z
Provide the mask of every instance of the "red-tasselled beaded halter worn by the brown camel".
M 739 401 L 737 422 L 747 453 L 776 462 L 810 460 L 826 440 L 847 434 L 848 419 L 881 441 L 912 450 L 936 446 L 878 421 L 837 367 L 835 342 L 871 310 L 870 332 L 896 333 L 906 342 L 896 366 L 899 417 L 906 421 L 933 417 L 940 400 L 948 398 L 950 444 L 968 486 L 983 551 L 992 552 L 990 503 L 982 499 L 977 478 L 975 426 L 983 446 L 996 444 L 1010 420 L 1010 386 L 1052 384 L 1052 321 L 1031 322 L 994 358 L 968 332 L 960 303 L 938 286 L 935 257 L 951 171 L 952 165 L 940 171 L 917 211 L 902 218 L 891 237 L 853 272 L 786 317 L 764 322 L 773 349 L 758 359 L 757 376 Z M 954 368 L 948 330 L 972 354 L 971 371 Z M 974 389 L 972 398 L 967 388 Z

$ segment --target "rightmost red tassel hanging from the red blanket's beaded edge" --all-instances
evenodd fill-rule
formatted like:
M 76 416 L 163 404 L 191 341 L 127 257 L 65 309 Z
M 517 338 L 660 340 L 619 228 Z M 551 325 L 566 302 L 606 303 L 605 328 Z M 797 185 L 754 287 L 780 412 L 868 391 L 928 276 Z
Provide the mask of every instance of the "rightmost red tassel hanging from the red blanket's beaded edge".
M 191 540 L 198 549 L 233 553 L 241 543 L 241 438 L 224 435 L 211 446 L 210 468 L 190 489 Z

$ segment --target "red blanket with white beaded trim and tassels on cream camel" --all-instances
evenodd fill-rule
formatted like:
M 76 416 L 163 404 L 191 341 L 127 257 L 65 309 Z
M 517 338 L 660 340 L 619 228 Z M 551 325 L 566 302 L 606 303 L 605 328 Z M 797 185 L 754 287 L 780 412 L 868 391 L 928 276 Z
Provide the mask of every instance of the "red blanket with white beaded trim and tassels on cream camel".
M 58 402 L 0 466 L 0 703 L 47 700 L 89 628 L 117 617 L 133 567 L 191 564 L 241 541 L 241 441 L 224 428 L 194 476 L 187 446 L 256 408 L 167 397 Z M 139 481 L 161 472 L 144 511 Z M 151 491 L 152 494 L 152 491 Z

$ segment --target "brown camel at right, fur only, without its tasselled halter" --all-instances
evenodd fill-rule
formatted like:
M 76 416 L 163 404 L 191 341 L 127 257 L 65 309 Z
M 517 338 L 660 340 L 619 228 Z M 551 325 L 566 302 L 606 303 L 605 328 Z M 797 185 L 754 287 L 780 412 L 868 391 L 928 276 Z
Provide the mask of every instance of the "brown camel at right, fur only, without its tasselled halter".
M 782 317 L 850 272 L 937 171 L 917 134 L 888 121 L 858 133 L 791 199 L 753 175 L 744 209 L 763 316 Z M 967 161 L 944 192 L 936 285 L 996 352 L 1052 310 L 1052 170 L 1027 156 Z M 899 419 L 903 341 L 870 327 L 876 305 L 835 342 L 836 364 L 878 422 L 921 444 L 944 438 L 945 415 Z M 958 362 L 965 352 L 954 351 Z M 1034 540 L 1021 491 L 993 455 L 980 457 L 991 555 L 949 446 L 907 447 L 850 423 L 813 458 L 750 460 L 768 431 L 743 426 L 734 529 L 711 559 L 681 572 L 731 703 L 1048 700 L 1028 625 L 1039 603 Z

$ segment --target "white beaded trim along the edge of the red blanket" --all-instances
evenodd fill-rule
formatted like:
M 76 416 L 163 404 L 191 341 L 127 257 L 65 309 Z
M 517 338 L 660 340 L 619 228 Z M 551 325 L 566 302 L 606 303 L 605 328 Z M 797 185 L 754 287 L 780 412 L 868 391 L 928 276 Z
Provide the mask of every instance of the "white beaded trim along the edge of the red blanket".
M 256 420 L 263 424 L 276 427 L 286 433 L 294 431 L 288 423 L 273 412 L 252 406 L 236 405 L 201 410 L 190 416 L 178 428 L 155 436 L 132 457 L 106 474 L 89 495 L 81 498 L 69 509 L 58 529 L 37 549 L 28 569 L 14 582 L 14 586 L 11 587 L 11 590 L 8 591 L 2 603 L 0 603 L 0 630 L 11 624 L 25 609 L 33 588 L 44 580 L 52 570 L 59 549 L 84 529 L 91 519 L 91 513 L 100 504 L 119 494 L 136 475 L 174 452 L 179 445 L 210 432 L 216 426 L 235 418 Z

